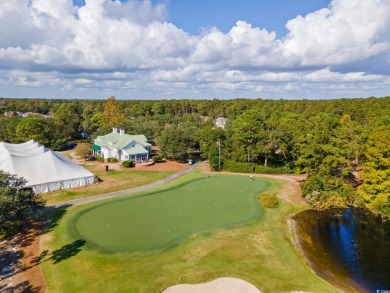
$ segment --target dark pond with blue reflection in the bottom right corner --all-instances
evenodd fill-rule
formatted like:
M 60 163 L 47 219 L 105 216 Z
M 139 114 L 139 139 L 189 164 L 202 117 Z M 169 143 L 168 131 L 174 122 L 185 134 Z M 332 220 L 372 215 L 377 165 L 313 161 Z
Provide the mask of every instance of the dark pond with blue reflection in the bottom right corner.
M 390 221 L 353 208 L 292 219 L 297 246 L 319 276 L 348 292 L 390 292 Z

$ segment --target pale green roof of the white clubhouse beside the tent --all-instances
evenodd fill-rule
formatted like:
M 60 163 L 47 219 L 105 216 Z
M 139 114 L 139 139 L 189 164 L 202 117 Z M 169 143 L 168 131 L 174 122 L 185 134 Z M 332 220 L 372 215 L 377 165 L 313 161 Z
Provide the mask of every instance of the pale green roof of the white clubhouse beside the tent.
M 149 147 L 151 144 L 147 143 L 145 135 L 129 135 L 120 133 L 109 133 L 103 136 L 98 136 L 94 143 L 100 147 L 109 147 L 111 149 L 124 149 L 127 145 L 132 142 L 136 142 L 143 147 Z

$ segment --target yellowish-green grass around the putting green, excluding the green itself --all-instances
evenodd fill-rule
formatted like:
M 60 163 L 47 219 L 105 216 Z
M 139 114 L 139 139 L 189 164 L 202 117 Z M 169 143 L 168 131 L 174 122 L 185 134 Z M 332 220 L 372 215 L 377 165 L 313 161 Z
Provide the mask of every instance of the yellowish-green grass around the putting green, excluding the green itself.
M 187 182 L 188 186 L 196 186 L 191 182 L 199 176 L 204 175 L 188 174 L 155 191 L 185 186 Z M 228 176 L 230 180 L 233 177 Z M 249 181 L 247 176 L 243 178 Z M 240 190 L 240 185 L 234 186 L 229 191 L 231 196 Z M 279 186 L 275 183 L 274 187 Z M 188 190 L 183 196 L 192 197 L 199 192 Z M 109 205 L 119 202 L 125 201 L 105 201 Z M 252 201 L 255 203 L 258 204 L 256 198 Z M 262 292 L 337 292 L 314 274 L 291 243 L 286 220 L 299 208 L 285 201 L 278 208 L 261 213 L 254 205 L 258 214 L 246 225 L 205 228 L 176 246 L 148 253 L 107 253 L 94 249 L 88 242 L 83 246 L 81 239 L 75 237 L 74 225 L 89 208 L 92 211 L 103 206 L 94 203 L 70 208 L 41 241 L 42 251 L 48 250 L 42 262 L 48 292 L 160 292 L 178 283 L 199 283 L 224 276 L 242 278 Z M 203 216 L 199 214 L 198 218 Z

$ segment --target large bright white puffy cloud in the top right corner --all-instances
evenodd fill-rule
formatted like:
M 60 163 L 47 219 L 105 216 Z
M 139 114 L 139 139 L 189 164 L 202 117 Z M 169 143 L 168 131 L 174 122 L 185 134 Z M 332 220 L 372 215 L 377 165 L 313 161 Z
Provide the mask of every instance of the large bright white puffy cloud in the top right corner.
M 390 49 L 390 1 L 334 0 L 287 23 L 284 54 L 301 65 L 336 65 Z

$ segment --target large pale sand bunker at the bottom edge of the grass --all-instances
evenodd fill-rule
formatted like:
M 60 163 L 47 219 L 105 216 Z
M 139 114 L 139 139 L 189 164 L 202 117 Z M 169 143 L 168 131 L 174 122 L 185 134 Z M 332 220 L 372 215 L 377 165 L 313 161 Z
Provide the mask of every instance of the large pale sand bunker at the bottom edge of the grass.
M 236 278 L 219 278 L 202 284 L 180 284 L 162 293 L 261 293 L 252 284 Z

